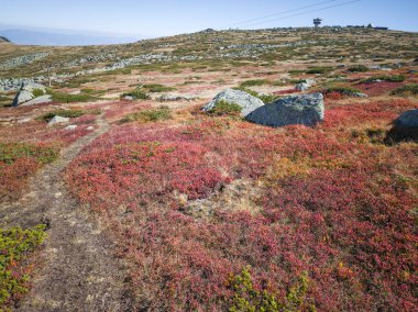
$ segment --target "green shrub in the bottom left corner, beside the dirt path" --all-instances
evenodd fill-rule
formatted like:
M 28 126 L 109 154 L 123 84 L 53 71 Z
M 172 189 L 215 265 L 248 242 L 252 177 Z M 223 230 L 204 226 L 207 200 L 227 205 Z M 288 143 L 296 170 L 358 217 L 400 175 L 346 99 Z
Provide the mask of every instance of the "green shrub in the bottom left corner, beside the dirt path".
M 29 269 L 23 264 L 45 239 L 44 231 L 45 225 L 0 229 L 0 310 L 28 292 Z

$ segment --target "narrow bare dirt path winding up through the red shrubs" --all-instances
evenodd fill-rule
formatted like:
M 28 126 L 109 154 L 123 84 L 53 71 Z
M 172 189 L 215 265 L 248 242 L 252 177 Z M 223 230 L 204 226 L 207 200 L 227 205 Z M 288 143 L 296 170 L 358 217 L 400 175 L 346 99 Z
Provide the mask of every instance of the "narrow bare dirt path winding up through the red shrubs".
M 2 224 L 26 227 L 44 222 L 51 226 L 41 271 L 18 311 L 130 310 L 125 270 L 113 255 L 113 243 L 67 193 L 62 177 L 82 147 L 108 127 L 99 119 L 96 131 L 64 149 L 58 160 L 32 179 L 30 191 L 20 201 L 0 208 Z

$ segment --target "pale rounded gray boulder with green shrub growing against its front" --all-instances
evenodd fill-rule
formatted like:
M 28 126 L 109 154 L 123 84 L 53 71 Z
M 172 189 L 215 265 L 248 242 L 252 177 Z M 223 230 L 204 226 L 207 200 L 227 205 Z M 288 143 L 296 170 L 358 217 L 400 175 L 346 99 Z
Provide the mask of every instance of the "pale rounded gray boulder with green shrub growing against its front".
M 264 107 L 264 102 L 258 98 L 255 98 L 244 91 L 227 89 L 220 92 L 213 98 L 208 104 L 206 104 L 202 110 L 210 112 L 213 110 L 220 101 L 226 101 L 228 103 L 235 103 L 242 108 L 241 116 L 245 118 L 254 110 Z

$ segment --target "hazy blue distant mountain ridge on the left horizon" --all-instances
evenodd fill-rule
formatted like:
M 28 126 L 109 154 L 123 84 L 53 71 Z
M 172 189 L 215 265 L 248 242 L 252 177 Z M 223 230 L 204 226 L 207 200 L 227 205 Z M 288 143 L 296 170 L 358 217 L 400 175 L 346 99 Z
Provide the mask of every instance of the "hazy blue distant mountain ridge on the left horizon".
M 3 30 L 0 31 L 0 35 L 10 38 L 10 41 L 15 44 L 23 45 L 102 45 L 130 43 L 138 40 L 118 36 L 48 33 L 28 30 Z

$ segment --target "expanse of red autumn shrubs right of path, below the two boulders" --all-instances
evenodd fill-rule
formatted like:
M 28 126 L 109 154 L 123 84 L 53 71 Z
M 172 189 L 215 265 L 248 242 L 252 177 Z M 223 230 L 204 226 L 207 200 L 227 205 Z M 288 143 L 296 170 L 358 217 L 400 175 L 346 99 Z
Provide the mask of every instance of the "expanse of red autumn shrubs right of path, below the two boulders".
M 228 309 L 228 280 L 248 265 L 282 299 L 308 272 L 320 311 L 418 308 L 415 145 L 353 135 L 414 104 L 329 104 L 314 129 L 197 114 L 119 125 L 86 148 L 67 181 L 111 224 L 139 309 Z M 187 213 L 237 179 L 262 185 L 260 212 Z

